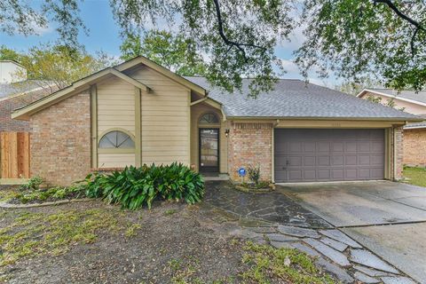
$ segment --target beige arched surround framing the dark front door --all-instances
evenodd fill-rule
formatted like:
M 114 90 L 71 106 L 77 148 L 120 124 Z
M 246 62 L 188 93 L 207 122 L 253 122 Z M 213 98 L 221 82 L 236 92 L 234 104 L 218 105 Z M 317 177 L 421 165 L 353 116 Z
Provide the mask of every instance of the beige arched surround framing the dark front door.
M 199 168 L 199 125 L 198 120 L 202 114 L 212 112 L 220 118 L 219 130 L 219 170 L 221 173 L 228 172 L 228 138 L 225 136 L 226 122 L 223 122 L 223 117 L 220 111 L 213 106 L 205 103 L 200 103 L 191 106 L 191 164 L 195 166 L 195 170 Z

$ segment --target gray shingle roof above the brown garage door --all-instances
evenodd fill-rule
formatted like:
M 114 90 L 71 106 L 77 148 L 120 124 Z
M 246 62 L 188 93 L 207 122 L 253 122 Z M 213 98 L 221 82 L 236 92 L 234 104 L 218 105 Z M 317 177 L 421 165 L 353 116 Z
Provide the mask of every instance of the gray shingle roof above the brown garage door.
M 242 90 L 233 93 L 212 87 L 206 78 L 185 77 L 209 91 L 209 98 L 224 106 L 229 117 L 312 117 L 312 118 L 416 118 L 390 106 L 383 106 L 315 85 L 302 80 L 279 80 L 273 91 L 248 98 L 250 79 L 244 79 Z

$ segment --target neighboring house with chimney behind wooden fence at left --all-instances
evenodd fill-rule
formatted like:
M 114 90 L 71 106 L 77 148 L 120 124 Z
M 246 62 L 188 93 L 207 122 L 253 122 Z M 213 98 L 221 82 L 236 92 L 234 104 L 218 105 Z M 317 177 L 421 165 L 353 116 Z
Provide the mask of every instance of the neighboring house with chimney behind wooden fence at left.
M 0 132 L 29 132 L 29 122 L 12 120 L 13 110 L 57 90 L 51 83 L 27 80 L 27 71 L 18 62 L 0 60 Z

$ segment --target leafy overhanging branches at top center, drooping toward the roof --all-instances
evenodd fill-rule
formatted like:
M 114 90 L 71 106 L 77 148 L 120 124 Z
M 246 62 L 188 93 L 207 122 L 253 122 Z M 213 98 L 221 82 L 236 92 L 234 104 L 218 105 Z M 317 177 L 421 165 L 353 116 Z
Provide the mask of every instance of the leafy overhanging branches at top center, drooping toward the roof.
M 149 22 L 153 22 L 154 27 L 157 21 L 166 22 L 173 35 L 192 43 L 193 52 L 202 55 L 206 63 L 204 75 L 210 82 L 233 91 L 241 89 L 242 78 L 250 77 L 252 96 L 271 90 L 275 79 L 283 75 L 282 62 L 274 49 L 288 38 L 294 27 L 289 15 L 292 4 L 252 0 L 216 3 L 165 4 L 161 0 L 144 0 L 135 4 L 133 0 L 111 0 L 124 36 L 146 32 Z

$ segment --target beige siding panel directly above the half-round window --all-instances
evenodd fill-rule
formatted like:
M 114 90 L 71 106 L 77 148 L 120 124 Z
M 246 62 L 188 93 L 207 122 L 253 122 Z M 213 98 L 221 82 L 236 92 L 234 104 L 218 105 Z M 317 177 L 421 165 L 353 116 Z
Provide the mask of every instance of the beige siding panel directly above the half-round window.
M 135 88 L 117 77 L 98 84 L 98 136 L 122 128 L 135 135 Z M 100 165 L 100 163 L 99 163 Z

